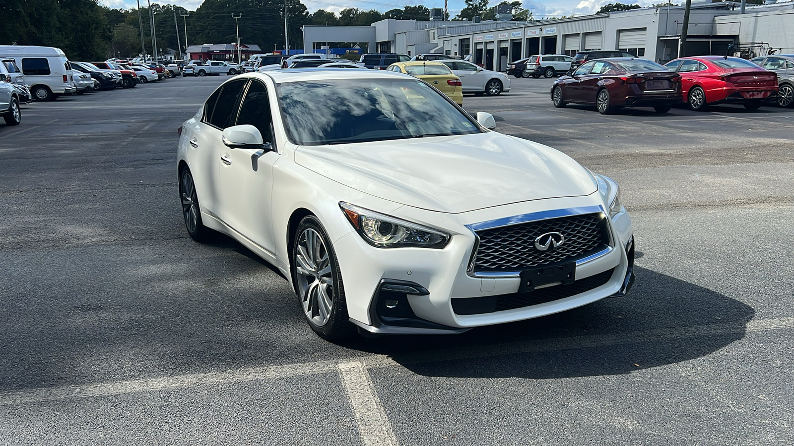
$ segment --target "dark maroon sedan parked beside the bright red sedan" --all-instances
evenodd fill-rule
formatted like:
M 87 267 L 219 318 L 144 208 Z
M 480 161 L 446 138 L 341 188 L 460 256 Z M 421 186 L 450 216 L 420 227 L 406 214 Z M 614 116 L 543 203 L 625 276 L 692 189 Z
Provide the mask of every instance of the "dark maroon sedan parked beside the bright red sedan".
M 681 77 L 650 60 L 591 60 L 557 79 L 551 100 L 557 108 L 569 102 L 595 104 L 601 114 L 619 107 L 653 107 L 666 113 L 681 102 Z

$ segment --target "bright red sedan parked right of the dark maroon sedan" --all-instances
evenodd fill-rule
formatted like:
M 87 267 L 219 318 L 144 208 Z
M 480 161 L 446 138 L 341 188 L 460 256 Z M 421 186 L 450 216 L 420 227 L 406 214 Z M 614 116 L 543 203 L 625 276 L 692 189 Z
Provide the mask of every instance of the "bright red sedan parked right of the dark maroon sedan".
M 777 75 L 738 57 L 682 57 L 665 64 L 681 75 L 681 102 L 692 110 L 709 104 L 742 104 L 756 110 L 777 95 Z

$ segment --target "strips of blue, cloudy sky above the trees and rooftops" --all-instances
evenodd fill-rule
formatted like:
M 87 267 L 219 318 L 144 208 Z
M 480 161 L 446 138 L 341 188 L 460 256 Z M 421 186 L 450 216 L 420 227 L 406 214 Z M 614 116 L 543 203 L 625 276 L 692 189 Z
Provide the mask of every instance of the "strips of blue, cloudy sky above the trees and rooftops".
M 145 1 L 146 0 L 141 0 L 141 6 L 145 6 Z M 172 3 L 182 6 L 187 10 L 195 10 L 202 4 L 202 1 L 203 0 L 157 0 L 157 3 Z M 500 0 L 491 0 L 491 6 L 496 5 L 499 1 Z M 535 18 L 542 18 L 592 14 L 598 11 L 601 6 L 615 1 L 616 0 L 549 0 L 548 2 L 538 2 L 535 0 L 524 0 L 523 6 L 527 10 L 532 10 Z M 100 0 L 100 3 L 105 6 L 110 6 L 111 8 L 128 9 L 137 6 L 136 0 Z M 650 6 L 652 2 L 645 0 L 630 2 L 626 0 L 624 3 L 638 3 L 640 6 Z M 403 2 L 399 0 L 373 0 L 372 2 L 365 0 L 322 0 L 320 2 L 303 0 L 303 4 L 306 5 L 310 13 L 316 10 L 329 10 L 338 13 L 345 8 L 351 7 L 360 10 L 379 10 L 380 12 L 386 12 L 394 8 L 402 9 L 405 5 L 424 5 L 428 8 L 443 8 L 444 0 L 403 0 Z M 448 5 L 449 14 L 454 17 L 465 6 L 465 3 L 463 0 L 449 0 Z

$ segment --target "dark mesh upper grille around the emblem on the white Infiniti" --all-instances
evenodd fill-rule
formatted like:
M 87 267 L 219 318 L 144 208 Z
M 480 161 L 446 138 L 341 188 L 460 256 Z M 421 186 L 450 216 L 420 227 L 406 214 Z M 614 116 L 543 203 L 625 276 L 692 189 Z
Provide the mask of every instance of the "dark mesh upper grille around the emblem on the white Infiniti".
M 565 236 L 562 246 L 546 252 L 534 247 L 545 233 Z M 475 272 L 522 271 L 550 263 L 581 259 L 606 248 L 609 232 L 602 213 L 530 221 L 477 231 L 480 245 L 474 260 Z

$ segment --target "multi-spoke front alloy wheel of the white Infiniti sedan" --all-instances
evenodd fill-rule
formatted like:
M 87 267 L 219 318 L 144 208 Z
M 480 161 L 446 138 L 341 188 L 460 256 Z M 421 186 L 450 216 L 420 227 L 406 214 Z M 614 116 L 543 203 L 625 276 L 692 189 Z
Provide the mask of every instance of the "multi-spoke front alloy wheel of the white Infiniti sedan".
M 333 310 L 333 270 L 322 236 L 313 228 L 300 234 L 295 279 L 303 312 L 314 325 L 326 325 Z

